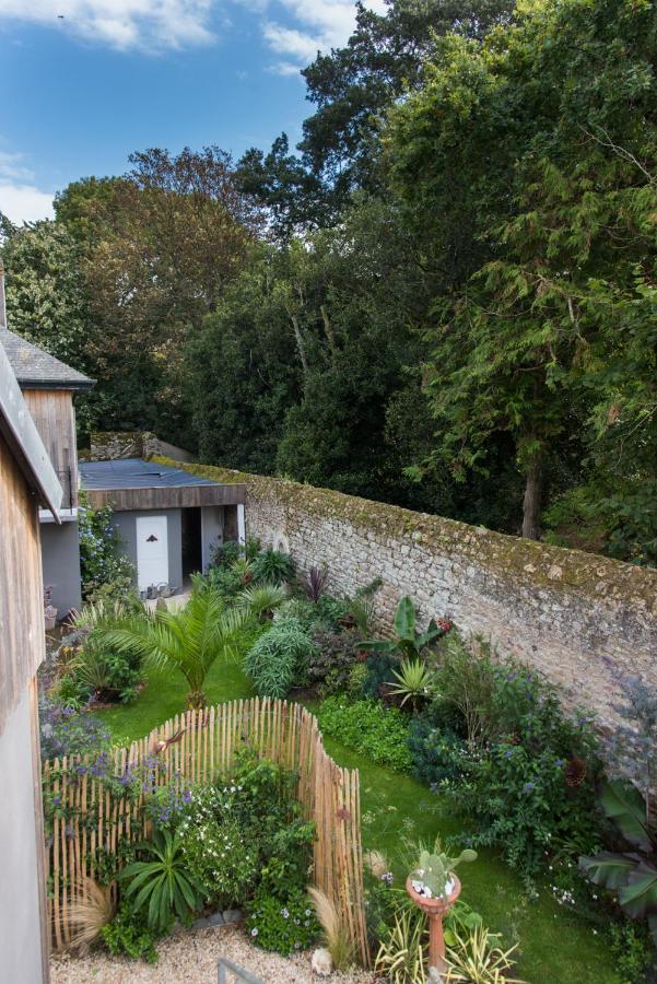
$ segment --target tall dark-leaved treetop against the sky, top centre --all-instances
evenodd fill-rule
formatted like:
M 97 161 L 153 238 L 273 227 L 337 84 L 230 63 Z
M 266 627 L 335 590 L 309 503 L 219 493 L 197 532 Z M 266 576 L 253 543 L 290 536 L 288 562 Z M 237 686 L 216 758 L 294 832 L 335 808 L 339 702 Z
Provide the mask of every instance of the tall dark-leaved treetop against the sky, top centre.
M 301 160 L 282 134 L 271 152 L 249 151 L 240 162 L 246 188 L 273 213 L 274 226 L 321 227 L 340 221 L 356 190 L 380 194 L 378 129 L 385 112 L 422 84 L 435 38 L 451 31 L 480 38 L 507 22 L 513 0 L 387 0 L 385 13 L 356 3 L 348 44 L 318 55 L 302 74 L 316 108 L 304 121 Z

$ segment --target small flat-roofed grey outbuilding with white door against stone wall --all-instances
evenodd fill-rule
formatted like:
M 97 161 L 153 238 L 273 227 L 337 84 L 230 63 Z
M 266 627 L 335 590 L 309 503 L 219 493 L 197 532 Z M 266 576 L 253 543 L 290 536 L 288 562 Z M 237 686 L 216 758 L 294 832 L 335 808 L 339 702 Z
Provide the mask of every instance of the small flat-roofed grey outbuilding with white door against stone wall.
M 142 458 L 81 461 L 80 479 L 92 508 L 112 506 L 140 591 L 180 588 L 190 574 L 208 570 L 224 541 L 244 542 L 244 484 L 220 484 Z

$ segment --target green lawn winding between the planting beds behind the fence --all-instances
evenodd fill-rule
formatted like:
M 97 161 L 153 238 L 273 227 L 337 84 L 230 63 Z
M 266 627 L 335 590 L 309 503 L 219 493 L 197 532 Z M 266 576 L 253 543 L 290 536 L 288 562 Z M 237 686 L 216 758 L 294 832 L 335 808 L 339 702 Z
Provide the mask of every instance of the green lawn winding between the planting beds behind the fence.
M 139 738 L 179 713 L 186 686 L 164 671 L 151 672 L 146 687 L 131 705 L 101 712 L 118 740 Z M 218 663 L 208 678 L 210 702 L 251 696 L 249 681 L 234 660 Z M 431 841 L 458 834 L 458 821 L 426 786 L 388 769 L 373 765 L 332 740 L 327 750 L 341 765 L 361 774 L 364 846 L 383 851 L 398 882 L 404 872 L 395 856 L 400 840 Z M 620 984 L 603 940 L 589 926 L 560 906 L 549 889 L 529 901 L 518 876 L 493 852 L 481 852 L 462 872 L 462 899 L 480 912 L 486 924 L 503 933 L 511 945 L 519 940 L 518 972 L 531 984 Z

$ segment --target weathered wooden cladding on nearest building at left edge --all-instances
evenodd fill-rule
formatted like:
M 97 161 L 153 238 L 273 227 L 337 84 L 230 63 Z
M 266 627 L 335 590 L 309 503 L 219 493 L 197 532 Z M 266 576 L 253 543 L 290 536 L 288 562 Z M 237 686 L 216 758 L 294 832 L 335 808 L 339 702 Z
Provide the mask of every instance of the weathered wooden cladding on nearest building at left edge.
M 0 436 L 0 734 L 45 657 L 37 502 Z

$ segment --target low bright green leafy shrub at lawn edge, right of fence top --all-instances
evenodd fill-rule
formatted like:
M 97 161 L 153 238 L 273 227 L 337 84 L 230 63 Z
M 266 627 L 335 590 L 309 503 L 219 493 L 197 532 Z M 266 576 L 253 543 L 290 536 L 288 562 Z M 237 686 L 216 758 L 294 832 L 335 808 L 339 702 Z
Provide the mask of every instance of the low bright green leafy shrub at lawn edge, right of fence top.
M 408 718 L 396 707 L 385 707 L 377 701 L 349 703 L 344 698 L 331 696 L 320 704 L 317 718 L 325 735 L 363 752 L 373 762 L 398 772 L 410 770 Z

